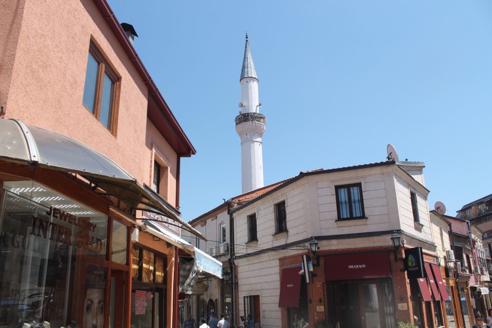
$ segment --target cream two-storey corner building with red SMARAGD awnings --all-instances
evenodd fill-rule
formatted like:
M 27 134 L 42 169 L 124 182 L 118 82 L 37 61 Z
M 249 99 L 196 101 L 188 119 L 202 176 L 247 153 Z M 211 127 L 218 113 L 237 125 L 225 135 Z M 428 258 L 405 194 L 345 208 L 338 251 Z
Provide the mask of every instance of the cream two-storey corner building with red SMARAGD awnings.
M 304 316 L 310 326 L 325 319 L 335 326 L 376 326 L 371 323 L 380 327 L 412 320 L 414 315 L 432 320 L 424 303 L 419 305 L 417 282 L 411 279 L 411 286 L 406 284 L 405 274 L 400 272 L 403 265 L 395 262 L 390 239 L 395 232 L 400 234 L 405 248 L 421 247 L 426 262 L 436 264 L 423 167 L 421 162 L 388 161 L 301 172 L 232 210 L 239 315 L 253 312 L 262 327 L 296 326 L 296 316 Z M 283 301 L 282 275 L 294 270 L 295 278 L 301 271 L 301 255 L 310 254 L 311 237 L 319 242 L 321 265 L 314 268 L 316 277 L 308 284 L 310 288 L 304 284 L 300 292 L 294 291 L 298 297 L 294 305 L 279 306 Z M 402 256 L 401 248 L 398 256 Z M 380 270 L 375 274 L 378 279 L 368 280 L 371 275 L 360 270 L 347 273 L 353 275 L 344 277 L 350 283 L 335 280 L 333 272 L 344 272 L 338 263 L 345 259 L 360 262 L 363 268 L 385 269 L 376 269 Z M 335 292 L 347 288 L 370 293 L 384 304 L 376 304 L 380 311 L 369 319 L 362 310 L 362 298 Z M 354 302 L 354 306 L 360 302 L 355 307 L 359 310 L 340 308 L 344 302 Z M 396 310 L 396 303 L 405 304 L 406 310 Z

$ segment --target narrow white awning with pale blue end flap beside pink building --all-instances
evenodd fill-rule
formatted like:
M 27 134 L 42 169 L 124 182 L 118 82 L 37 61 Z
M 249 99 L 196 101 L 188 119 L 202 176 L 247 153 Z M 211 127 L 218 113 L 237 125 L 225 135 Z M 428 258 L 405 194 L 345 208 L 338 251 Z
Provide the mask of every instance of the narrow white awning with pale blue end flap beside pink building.
M 196 259 L 199 272 L 207 272 L 222 279 L 222 263 L 220 261 L 217 261 L 212 256 L 194 247 L 185 239 L 182 239 L 165 228 L 160 227 L 159 224 L 154 224 L 152 221 L 147 222 L 150 224 L 148 224 L 146 232 L 162 238 L 192 255 Z

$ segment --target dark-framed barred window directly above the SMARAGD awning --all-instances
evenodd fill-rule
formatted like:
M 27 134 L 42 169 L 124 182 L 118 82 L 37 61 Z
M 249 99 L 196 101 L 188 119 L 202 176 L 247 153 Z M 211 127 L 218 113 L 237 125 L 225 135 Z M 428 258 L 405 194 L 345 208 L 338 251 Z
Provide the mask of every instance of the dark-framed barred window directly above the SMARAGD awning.
M 362 199 L 362 183 L 335 186 L 337 197 L 338 219 L 364 218 L 364 200 Z

